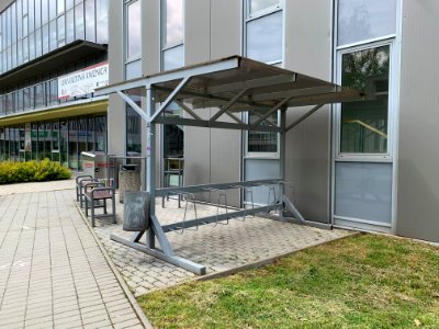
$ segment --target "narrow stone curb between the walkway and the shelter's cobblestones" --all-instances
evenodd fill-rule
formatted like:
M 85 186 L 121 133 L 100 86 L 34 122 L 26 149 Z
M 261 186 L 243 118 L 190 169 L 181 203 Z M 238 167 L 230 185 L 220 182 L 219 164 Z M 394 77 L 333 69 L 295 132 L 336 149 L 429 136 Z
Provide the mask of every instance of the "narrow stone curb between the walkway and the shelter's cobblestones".
M 106 252 L 106 250 L 103 247 L 101 240 L 99 239 L 99 237 L 94 232 L 93 228 L 90 226 L 89 220 L 86 218 L 86 216 L 83 215 L 81 208 L 78 206 L 78 204 L 75 202 L 75 200 L 72 200 L 72 202 L 74 202 L 78 213 L 81 215 L 81 218 L 82 218 L 83 223 L 87 225 L 87 227 L 89 228 L 91 235 L 93 236 L 94 241 L 98 243 L 98 247 L 101 250 L 103 257 L 105 258 L 105 261 L 109 264 L 111 271 L 114 273 L 114 276 L 119 281 L 119 284 L 121 285 L 125 296 L 128 298 L 128 302 L 130 302 L 132 308 L 134 309 L 134 311 L 136 313 L 137 318 L 139 319 L 139 321 L 142 322 L 142 325 L 145 328 L 153 329 L 154 328 L 153 325 L 149 322 L 148 318 L 146 317 L 146 315 L 142 310 L 140 306 L 138 306 L 136 298 L 134 297 L 133 293 L 131 292 L 130 287 L 127 286 L 125 280 L 119 273 L 119 270 L 116 269 L 116 266 L 114 265 L 113 261 L 111 260 L 111 257 Z

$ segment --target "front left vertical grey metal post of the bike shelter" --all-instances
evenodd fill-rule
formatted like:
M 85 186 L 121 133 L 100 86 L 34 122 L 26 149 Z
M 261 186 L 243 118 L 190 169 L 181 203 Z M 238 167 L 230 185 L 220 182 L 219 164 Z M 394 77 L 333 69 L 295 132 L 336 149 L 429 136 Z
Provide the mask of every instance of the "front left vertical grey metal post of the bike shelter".
M 154 89 L 151 86 L 146 87 L 146 112 L 148 117 L 153 117 L 156 110 L 154 101 Z M 146 131 L 146 191 L 149 193 L 149 213 L 150 216 L 156 215 L 156 125 L 148 123 Z M 148 218 L 151 222 L 150 218 Z M 146 235 L 146 245 L 155 248 L 155 234 L 149 228 Z

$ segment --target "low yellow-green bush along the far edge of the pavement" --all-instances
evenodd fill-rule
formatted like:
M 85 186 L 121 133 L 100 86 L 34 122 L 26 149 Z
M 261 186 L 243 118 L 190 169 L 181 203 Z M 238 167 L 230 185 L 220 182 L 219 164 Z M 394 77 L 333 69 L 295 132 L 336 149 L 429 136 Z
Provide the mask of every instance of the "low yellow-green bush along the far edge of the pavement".
M 48 159 L 29 162 L 0 162 L 0 184 L 67 180 L 68 168 Z

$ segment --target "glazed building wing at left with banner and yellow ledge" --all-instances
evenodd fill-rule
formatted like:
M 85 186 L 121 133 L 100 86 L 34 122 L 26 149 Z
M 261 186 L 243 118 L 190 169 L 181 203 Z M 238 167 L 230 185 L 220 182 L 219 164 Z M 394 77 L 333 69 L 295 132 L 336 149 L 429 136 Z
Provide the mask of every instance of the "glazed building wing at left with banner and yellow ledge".
M 106 151 L 108 100 L 81 88 L 108 81 L 108 0 L 0 3 L 0 160 L 80 170 L 81 151 Z

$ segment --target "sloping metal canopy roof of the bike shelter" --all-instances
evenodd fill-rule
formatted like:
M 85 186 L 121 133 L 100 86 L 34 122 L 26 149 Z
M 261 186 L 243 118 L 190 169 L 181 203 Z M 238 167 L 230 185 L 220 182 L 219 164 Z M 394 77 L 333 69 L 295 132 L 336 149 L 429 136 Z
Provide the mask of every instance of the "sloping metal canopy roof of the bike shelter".
M 154 102 L 162 103 L 151 117 L 143 114 L 148 122 L 164 122 L 159 115 L 172 102 L 180 104 L 195 121 L 201 118 L 194 110 L 218 107 L 210 123 L 226 114 L 243 124 L 234 113 L 254 111 L 261 117 L 257 123 L 260 124 L 277 110 L 362 98 L 356 90 L 240 56 L 112 84 L 97 90 L 95 94 L 117 92 L 135 107 L 128 95 L 145 95 L 148 89 L 154 89 Z M 137 106 L 135 110 L 138 112 L 140 109 Z M 185 123 L 180 121 L 178 124 Z

